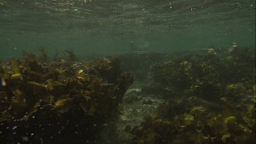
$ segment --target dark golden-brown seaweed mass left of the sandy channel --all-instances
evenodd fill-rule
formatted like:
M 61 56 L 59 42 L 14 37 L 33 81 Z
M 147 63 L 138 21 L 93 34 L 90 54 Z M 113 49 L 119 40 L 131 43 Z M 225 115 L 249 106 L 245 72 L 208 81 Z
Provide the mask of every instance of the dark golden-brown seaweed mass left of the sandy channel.
M 120 70 L 118 57 L 73 62 L 68 51 L 71 61 L 45 61 L 41 52 L 1 63 L 1 143 L 96 141 L 107 119 L 119 115 L 132 73 Z

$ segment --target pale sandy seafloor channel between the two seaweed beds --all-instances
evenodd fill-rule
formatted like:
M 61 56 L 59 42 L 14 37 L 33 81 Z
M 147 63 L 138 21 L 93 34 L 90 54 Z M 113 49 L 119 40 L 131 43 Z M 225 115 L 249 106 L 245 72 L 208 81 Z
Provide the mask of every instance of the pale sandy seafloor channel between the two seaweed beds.
M 130 143 L 134 135 L 126 131 L 126 127 L 131 129 L 135 126 L 140 126 L 143 119 L 149 115 L 154 115 L 159 104 L 164 102 L 160 98 L 154 95 L 144 95 L 141 93 L 141 88 L 145 83 L 135 81 L 130 89 L 126 91 L 123 98 L 123 112 L 119 116 L 119 119 L 113 119 L 106 124 L 106 127 L 102 130 L 102 140 L 100 143 Z M 126 102 L 130 100 L 130 97 L 134 99 L 132 102 Z M 151 101 L 151 102 L 148 102 Z

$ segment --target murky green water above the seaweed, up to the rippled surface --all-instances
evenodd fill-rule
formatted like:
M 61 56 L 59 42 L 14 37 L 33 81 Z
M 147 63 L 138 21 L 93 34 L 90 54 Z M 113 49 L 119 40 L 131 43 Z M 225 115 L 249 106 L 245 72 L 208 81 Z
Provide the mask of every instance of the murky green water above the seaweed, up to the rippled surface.
M 1 0 L 0 57 L 255 48 L 255 0 Z

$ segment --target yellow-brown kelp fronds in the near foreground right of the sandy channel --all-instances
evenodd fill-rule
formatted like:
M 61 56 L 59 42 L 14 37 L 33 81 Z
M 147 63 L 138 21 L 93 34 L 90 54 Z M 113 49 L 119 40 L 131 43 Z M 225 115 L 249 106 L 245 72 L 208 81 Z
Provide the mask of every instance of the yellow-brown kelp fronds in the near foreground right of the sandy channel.
M 233 109 L 208 114 L 202 106 L 197 106 L 190 113 L 165 120 L 163 126 L 155 126 L 156 121 L 163 121 L 155 117 L 145 121 L 140 129 L 133 130 L 137 131 L 134 143 L 255 143 L 252 139 L 255 137 L 255 117 L 244 120 L 255 113 L 255 106 L 249 107 L 254 111 L 234 115 Z

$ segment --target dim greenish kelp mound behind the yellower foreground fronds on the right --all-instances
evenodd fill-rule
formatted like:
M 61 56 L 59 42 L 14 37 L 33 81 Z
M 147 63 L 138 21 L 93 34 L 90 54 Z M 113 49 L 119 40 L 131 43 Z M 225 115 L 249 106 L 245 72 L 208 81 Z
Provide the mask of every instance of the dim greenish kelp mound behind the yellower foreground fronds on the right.
M 255 83 L 255 53 L 249 48 L 235 48 L 232 52 L 216 49 L 170 55 L 151 66 L 155 91 L 166 91 L 176 96 L 197 96 L 217 100 L 223 96 L 232 98 L 240 91 L 251 95 Z M 210 92 L 211 91 L 211 92 Z M 233 96 L 231 96 L 233 95 Z M 167 96 L 168 98 L 168 93 Z

